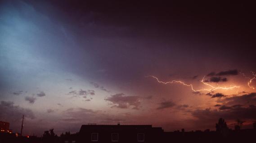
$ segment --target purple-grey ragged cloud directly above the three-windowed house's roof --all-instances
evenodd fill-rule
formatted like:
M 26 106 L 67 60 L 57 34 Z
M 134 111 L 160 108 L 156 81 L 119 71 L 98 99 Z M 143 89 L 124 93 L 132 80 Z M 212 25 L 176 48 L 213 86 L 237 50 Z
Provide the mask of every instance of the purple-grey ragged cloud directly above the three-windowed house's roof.
M 106 101 L 110 101 L 113 106 L 117 108 L 127 109 L 133 107 L 132 109 L 139 109 L 140 97 L 138 96 L 126 96 L 124 93 L 117 93 L 105 98 Z

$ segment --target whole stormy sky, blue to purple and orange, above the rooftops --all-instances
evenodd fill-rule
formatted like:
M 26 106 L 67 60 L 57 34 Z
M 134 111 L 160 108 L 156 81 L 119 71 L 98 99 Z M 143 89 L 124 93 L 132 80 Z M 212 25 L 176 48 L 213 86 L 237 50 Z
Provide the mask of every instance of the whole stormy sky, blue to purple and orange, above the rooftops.
M 39 136 L 87 123 L 214 130 L 218 118 L 252 128 L 254 17 L 242 2 L 1 1 L 0 120 L 19 132 L 25 114 L 24 134 Z

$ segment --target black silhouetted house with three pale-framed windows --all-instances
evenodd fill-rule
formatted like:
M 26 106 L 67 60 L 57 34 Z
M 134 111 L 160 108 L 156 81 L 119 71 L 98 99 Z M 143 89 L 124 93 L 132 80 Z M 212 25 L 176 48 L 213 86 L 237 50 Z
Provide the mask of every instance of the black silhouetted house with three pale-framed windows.
M 152 125 L 82 125 L 76 143 L 161 143 L 163 130 Z

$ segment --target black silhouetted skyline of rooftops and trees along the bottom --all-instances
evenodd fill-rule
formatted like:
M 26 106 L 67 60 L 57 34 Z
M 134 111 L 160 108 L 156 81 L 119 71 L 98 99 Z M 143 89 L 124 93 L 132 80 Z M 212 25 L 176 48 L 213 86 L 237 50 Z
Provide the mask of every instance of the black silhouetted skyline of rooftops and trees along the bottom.
M 6 124 L 3 125 L 5 128 L 2 129 L 6 129 Z M 220 118 L 216 131 L 164 131 L 152 125 L 87 124 L 82 125 L 75 134 L 66 132 L 60 136 L 54 133 L 54 129 L 45 131 L 42 137 L 0 132 L 0 143 L 256 143 L 255 135 L 256 128 L 232 130 Z

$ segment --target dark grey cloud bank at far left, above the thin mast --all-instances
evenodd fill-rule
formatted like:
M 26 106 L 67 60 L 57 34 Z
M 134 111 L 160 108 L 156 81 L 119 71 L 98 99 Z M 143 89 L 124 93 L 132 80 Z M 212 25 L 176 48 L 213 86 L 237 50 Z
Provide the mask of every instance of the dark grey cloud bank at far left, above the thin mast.
M 25 118 L 35 118 L 31 109 L 16 106 L 12 101 L 1 101 L 0 111 L 0 118 L 3 121 L 19 121 L 23 114 L 26 115 Z

